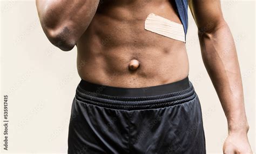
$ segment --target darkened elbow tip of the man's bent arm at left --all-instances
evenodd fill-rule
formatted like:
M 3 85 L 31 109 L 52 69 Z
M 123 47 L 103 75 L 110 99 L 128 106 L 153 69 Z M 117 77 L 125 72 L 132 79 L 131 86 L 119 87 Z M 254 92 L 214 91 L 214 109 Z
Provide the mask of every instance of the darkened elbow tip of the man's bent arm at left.
M 46 36 L 53 45 L 62 51 L 70 51 L 76 45 L 73 34 L 68 27 L 60 30 L 47 30 Z

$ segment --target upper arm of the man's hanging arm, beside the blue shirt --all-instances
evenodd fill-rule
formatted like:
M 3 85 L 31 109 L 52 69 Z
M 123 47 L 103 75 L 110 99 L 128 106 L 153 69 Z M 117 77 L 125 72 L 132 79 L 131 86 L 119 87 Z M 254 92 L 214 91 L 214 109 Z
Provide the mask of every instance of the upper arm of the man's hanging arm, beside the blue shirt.
M 223 24 L 220 0 L 189 0 L 188 5 L 200 32 L 210 33 Z

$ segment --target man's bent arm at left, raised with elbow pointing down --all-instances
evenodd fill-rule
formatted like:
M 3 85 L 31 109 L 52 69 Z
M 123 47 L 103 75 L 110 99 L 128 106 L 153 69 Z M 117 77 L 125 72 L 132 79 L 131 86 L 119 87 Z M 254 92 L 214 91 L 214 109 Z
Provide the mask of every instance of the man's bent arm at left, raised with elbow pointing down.
M 99 0 L 37 0 L 38 16 L 43 30 L 53 45 L 64 51 L 75 46 L 85 32 Z

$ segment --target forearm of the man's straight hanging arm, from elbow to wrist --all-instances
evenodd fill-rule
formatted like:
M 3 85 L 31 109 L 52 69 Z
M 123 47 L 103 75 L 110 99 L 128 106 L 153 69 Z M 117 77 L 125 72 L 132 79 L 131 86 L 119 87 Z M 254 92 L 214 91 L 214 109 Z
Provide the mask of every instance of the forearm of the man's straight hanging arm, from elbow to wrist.
M 237 52 L 231 31 L 221 22 L 213 31 L 199 32 L 204 65 L 218 94 L 228 131 L 248 131 Z

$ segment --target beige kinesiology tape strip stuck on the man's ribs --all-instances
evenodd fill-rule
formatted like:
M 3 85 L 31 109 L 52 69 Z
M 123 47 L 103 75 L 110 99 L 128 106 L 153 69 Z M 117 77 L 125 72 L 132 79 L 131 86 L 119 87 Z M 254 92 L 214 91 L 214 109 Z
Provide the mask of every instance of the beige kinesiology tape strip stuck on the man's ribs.
M 185 32 L 182 24 L 150 13 L 145 20 L 145 30 L 165 37 L 185 42 Z

